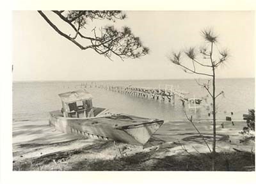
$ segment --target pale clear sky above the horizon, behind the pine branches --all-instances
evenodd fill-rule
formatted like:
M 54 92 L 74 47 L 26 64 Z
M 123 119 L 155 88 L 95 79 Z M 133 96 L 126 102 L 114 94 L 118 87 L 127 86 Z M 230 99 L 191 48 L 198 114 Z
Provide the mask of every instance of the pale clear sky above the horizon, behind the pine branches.
M 54 23 L 72 32 L 53 13 Z M 219 36 L 218 49 L 228 49 L 230 58 L 216 71 L 218 78 L 254 77 L 253 12 L 125 11 L 127 19 L 115 23 L 89 22 L 90 27 L 113 24 L 131 27 L 150 54 L 140 59 L 113 57 L 81 50 L 58 35 L 36 11 L 13 11 L 13 81 L 93 81 L 124 79 L 189 79 L 168 56 L 175 51 L 200 47 L 200 31 L 212 28 Z M 190 62 L 184 59 L 184 64 Z M 204 69 L 198 68 L 204 72 Z M 202 77 L 203 78 L 203 77 Z

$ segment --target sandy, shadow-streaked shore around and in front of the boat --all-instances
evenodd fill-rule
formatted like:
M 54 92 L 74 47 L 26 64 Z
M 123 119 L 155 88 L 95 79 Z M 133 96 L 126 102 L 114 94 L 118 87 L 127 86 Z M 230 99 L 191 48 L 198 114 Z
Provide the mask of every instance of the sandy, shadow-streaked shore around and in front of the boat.
M 195 124 L 211 147 L 211 122 Z M 245 126 L 245 121 L 218 121 L 217 170 L 254 171 L 254 139 L 239 134 Z M 188 121 L 168 121 L 145 146 L 135 146 L 63 134 L 47 120 L 24 120 L 13 121 L 13 170 L 207 171 L 211 155 Z

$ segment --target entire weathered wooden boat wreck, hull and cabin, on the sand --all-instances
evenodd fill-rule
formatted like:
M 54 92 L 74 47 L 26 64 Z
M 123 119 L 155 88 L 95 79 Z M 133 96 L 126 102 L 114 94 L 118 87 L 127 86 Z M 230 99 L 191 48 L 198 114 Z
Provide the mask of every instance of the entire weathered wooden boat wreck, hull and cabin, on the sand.
M 143 145 L 164 122 L 93 107 L 92 95 L 82 89 L 59 96 L 62 109 L 50 112 L 49 123 L 65 133 Z

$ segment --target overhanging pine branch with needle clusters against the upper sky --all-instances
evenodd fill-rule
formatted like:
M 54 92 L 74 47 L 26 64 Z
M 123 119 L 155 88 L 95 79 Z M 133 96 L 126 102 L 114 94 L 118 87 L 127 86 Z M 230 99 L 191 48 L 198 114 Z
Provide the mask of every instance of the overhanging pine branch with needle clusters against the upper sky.
M 93 20 L 116 20 L 125 19 L 122 11 L 52 11 L 61 21 L 68 24 L 74 30 L 74 36 L 70 36 L 67 31 L 62 31 L 52 22 L 47 15 L 38 11 L 44 20 L 61 36 L 77 45 L 82 50 L 93 49 L 98 54 L 104 55 L 111 59 L 115 54 L 121 59 L 140 58 L 148 54 L 149 49 L 144 47 L 140 38 L 134 36 L 129 27 L 123 27 L 121 30 L 115 29 L 114 26 L 94 27 L 87 31 L 86 26 Z

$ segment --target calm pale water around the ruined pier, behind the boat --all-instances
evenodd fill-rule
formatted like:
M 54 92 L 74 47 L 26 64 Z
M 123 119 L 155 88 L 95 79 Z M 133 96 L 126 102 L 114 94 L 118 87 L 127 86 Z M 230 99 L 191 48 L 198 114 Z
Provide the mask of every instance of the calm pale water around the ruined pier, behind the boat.
M 188 97 L 205 97 L 207 92 L 200 88 L 195 80 L 157 80 L 157 81 L 95 81 L 98 84 L 120 86 L 158 87 L 159 84 L 172 84 L 188 91 Z M 93 83 L 95 83 L 93 82 Z M 203 82 L 203 80 L 202 80 Z M 61 101 L 59 93 L 81 88 L 77 82 L 13 82 L 13 120 L 38 120 L 49 117 L 49 111 L 59 110 Z M 91 84 L 92 81 L 87 82 Z M 223 120 L 231 116 L 234 120 L 242 120 L 242 114 L 254 108 L 254 79 L 218 79 L 217 92 L 223 90 L 225 97 L 220 96 L 217 101 L 217 118 Z M 175 105 L 157 102 L 146 98 L 131 97 L 120 93 L 113 93 L 104 89 L 88 88 L 93 95 L 93 105 L 106 107 L 113 112 L 123 112 L 148 118 L 163 120 L 185 120 L 184 107 L 176 98 Z M 204 107 L 195 112 L 185 106 L 186 111 L 197 119 L 209 119 Z

